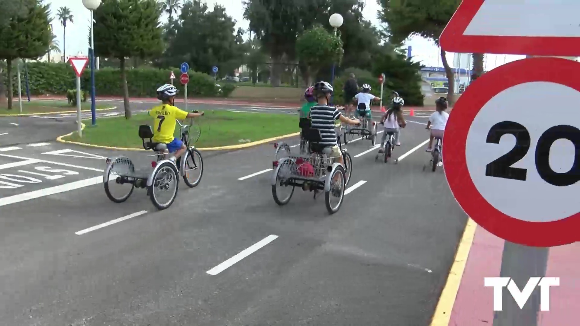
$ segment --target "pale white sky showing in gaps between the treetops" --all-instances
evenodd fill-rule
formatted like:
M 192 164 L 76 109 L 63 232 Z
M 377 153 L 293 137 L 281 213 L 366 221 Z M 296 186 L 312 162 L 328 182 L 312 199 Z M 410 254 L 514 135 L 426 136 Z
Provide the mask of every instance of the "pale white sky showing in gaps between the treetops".
M 371 21 L 375 26 L 380 26 L 380 21 L 377 19 L 377 12 L 380 6 L 376 0 L 365 0 L 366 5 L 363 10 L 365 19 Z M 237 21 L 236 27 L 248 28 L 249 22 L 244 20 L 244 5 L 241 0 L 202 0 L 208 3 L 209 8 L 212 8 L 213 3 L 218 3 L 226 8 L 228 15 Z M 82 5 L 80 0 L 45 0 L 45 3 L 50 3 L 53 20 L 53 30 L 57 36 L 57 41 L 61 51 L 63 50 L 63 26 L 56 19 L 56 13 L 61 6 L 67 6 L 73 14 L 73 23 L 67 23 L 66 30 L 66 53 L 68 55 L 77 55 L 82 52 L 86 55 L 88 52 L 88 33 L 90 26 L 90 11 Z M 166 17 L 164 17 L 166 19 Z M 443 67 L 441 64 L 440 52 L 433 41 L 429 41 L 422 37 L 411 37 L 405 42 L 405 46 L 412 47 L 412 60 L 420 61 L 428 67 Z M 453 62 L 453 53 L 447 53 L 447 60 L 449 64 Z M 523 59 L 525 56 L 515 55 L 486 55 L 485 56 L 485 70 L 491 70 L 497 66 L 508 63 L 510 61 Z

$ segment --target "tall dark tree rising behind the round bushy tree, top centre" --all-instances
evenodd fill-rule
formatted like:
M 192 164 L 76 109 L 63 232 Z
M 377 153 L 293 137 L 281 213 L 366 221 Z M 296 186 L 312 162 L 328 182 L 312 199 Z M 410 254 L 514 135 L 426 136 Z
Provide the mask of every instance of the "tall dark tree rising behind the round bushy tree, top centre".
M 247 0 L 244 17 L 273 61 L 271 83 L 280 86 L 282 59 L 296 58 L 296 39 L 326 15 L 329 0 Z M 326 18 L 328 19 L 328 18 Z

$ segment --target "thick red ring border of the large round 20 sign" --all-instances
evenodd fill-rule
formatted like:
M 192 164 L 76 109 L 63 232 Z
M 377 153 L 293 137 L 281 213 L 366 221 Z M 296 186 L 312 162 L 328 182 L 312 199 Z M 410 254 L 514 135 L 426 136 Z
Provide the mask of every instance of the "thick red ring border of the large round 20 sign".
M 580 64 L 555 57 L 513 61 L 473 82 L 449 115 L 443 155 L 445 175 L 455 199 L 477 224 L 495 236 L 533 247 L 554 247 L 580 240 L 580 213 L 552 222 L 526 222 L 493 207 L 477 191 L 466 163 L 467 133 L 481 108 L 503 90 L 525 82 L 554 82 L 580 92 Z M 546 202 L 546 205 L 550 205 Z

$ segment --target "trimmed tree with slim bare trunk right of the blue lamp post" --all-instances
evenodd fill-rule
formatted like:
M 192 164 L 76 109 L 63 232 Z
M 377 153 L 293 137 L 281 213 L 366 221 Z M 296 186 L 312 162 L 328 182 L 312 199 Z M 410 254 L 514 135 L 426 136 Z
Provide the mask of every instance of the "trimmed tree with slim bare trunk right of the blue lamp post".
M 96 55 L 119 59 L 126 119 L 131 118 L 131 107 L 125 59 L 161 55 L 160 16 L 161 6 L 155 0 L 104 0 L 95 10 Z

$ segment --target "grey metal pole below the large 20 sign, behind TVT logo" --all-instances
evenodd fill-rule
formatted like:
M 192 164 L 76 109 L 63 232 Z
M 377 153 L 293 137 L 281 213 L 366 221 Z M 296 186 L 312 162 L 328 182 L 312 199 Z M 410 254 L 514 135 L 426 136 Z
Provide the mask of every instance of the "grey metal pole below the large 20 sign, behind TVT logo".
M 503 245 L 499 277 L 511 277 L 517 287 L 524 288 L 530 277 L 545 277 L 549 248 L 528 247 L 506 241 Z M 493 326 L 538 326 L 540 288 L 534 288 L 528 302 L 520 309 L 507 289 L 502 291 L 503 310 L 494 311 Z

